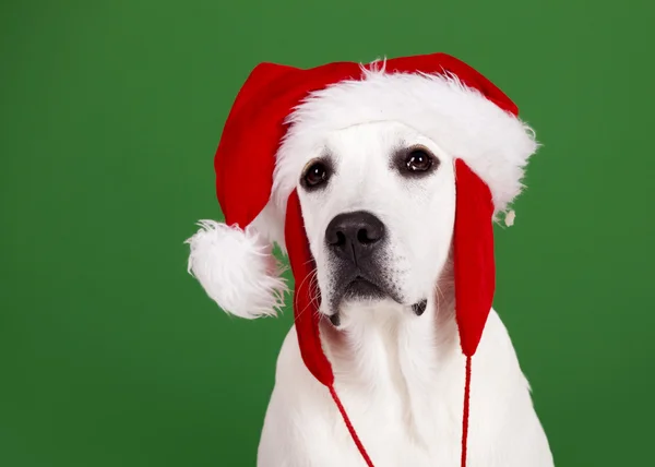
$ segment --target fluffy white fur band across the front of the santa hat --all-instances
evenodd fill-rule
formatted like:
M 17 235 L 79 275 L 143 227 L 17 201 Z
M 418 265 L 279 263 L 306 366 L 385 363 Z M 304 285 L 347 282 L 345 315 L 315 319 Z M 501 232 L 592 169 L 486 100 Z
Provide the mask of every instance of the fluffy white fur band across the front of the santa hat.
M 277 154 L 274 201 L 286 202 L 302 164 L 320 151 L 327 132 L 356 124 L 398 121 L 463 159 L 489 185 L 496 213 L 522 191 L 527 159 L 538 144 L 534 131 L 466 87 L 453 75 L 364 70 L 362 80 L 343 81 L 312 93 L 288 117 L 291 123 Z

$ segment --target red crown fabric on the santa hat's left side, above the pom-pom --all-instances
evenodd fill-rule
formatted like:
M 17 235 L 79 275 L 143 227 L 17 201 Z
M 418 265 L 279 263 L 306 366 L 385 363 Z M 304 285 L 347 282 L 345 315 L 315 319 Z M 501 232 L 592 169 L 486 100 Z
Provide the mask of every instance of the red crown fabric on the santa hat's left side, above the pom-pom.
M 291 109 L 308 93 L 359 75 L 355 63 L 311 70 L 274 63 L 254 68 L 237 95 L 214 157 L 216 194 L 228 225 L 248 226 L 269 202 L 275 154 Z

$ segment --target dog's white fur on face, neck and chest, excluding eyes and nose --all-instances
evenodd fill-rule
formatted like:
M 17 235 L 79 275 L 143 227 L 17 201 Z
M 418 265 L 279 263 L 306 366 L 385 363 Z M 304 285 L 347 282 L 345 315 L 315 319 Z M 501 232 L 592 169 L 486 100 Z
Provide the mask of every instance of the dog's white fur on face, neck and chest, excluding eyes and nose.
M 309 137 L 301 124 L 296 131 Z M 340 213 L 366 209 L 385 224 L 386 274 L 405 298 L 403 303 L 346 302 L 337 330 L 323 320 L 322 343 L 336 391 L 376 467 L 457 467 L 465 359 L 450 261 L 454 159 L 441 144 L 398 122 L 312 134 L 307 151 L 281 163 L 294 160 L 294 171 L 299 171 L 329 154 L 335 165 L 325 190 L 308 193 L 297 182 L 294 187 L 321 296 L 330 297 L 333 283 L 333 264 L 323 247 L 327 223 Z M 288 147 L 298 147 L 293 137 Z M 394 148 L 414 144 L 428 147 L 441 165 L 431 177 L 407 182 L 389 159 Z M 410 303 L 420 297 L 429 298 L 428 308 L 416 316 Z M 330 313 L 323 306 L 320 311 Z M 258 467 L 364 466 L 327 390 L 306 369 L 295 333 L 289 331 L 277 360 Z M 473 359 L 468 440 L 468 467 L 553 466 L 529 385 L 493 310 Z

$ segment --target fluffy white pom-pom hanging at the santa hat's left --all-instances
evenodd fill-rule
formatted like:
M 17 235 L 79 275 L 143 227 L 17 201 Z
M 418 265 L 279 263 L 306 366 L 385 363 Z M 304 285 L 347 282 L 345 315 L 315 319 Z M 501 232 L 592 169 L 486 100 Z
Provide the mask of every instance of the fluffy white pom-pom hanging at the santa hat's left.
M 287 291 L 273 247 L 252 228 L 201 220 L 191 246 L 189 273 L 227 313 L 249 320 L 277 314 Z

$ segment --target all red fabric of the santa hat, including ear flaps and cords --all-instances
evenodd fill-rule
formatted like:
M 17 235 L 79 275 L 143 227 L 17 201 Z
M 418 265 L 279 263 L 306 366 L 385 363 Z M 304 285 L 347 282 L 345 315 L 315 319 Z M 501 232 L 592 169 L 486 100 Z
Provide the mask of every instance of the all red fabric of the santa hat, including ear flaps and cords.
M 445 53 L 390 59 L 388 72 L 455 74 L 498 107 L 517 115 L 516 106 L 489 80 Z M 358 63 L 337 62 L 301 70 L 274 63 L 254 68 L 237 95 L 214 157 L 216 195 L 228 225 L 247 227 L 271 196 L 275 155 L 286 132 L 285 119 L 307 95 L 344 80 L 361 79 Z M 454 232 L 456 320 L 462 350 L 475 354 L 491 308 L 495 286 L 492 204 L 487 185 L 462 161 L 456 161 L 456 218 Z M 313 261 L 302 224 L 297 193 L 287 205 L 285 225 L 289 263 L 296 282 L 294 313 L 300 352 L 309 371 L 333 393 L 335 403 L 364 458 L 372 466 L 334 388 L 334 374 L 321 347 L 318 290 L 312 290 Z M 314 300 L 312 300 L 314 298 Z M 464 423 L 468 423 L 467 369 Z M 466 431 L 462 439 L 465 465 Z

